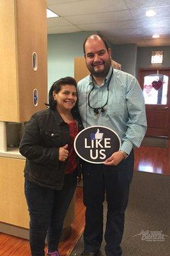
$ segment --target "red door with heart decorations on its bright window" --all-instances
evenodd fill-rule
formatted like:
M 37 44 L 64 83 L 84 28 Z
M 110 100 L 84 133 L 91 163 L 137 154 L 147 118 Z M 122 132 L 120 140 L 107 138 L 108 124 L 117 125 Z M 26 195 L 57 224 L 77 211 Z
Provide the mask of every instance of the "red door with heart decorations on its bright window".
M 146 104 L 146 136 L 168 137 L 170 130 L 170 68 L 140 68 L 139 84 Z

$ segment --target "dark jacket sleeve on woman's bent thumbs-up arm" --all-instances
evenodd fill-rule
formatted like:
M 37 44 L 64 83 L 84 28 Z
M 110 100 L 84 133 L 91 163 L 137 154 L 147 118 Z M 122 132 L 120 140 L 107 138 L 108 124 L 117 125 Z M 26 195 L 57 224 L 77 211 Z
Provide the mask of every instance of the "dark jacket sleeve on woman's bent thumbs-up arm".
M 54 164 L 58 166 L 59 148 L 42 146 L 40 127 L 36 114 L 26 124 L 22 140 L 20 141 L 19 152 L 26 159 L 33 161 L 33 163 Z

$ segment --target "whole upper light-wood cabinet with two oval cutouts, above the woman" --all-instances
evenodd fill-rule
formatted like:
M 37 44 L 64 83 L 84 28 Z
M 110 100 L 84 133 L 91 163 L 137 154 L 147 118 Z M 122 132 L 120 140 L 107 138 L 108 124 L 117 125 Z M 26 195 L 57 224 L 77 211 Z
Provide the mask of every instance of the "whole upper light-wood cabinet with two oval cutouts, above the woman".
M 0 1 L 1 121 L 26 122 L 47 102 L 46 8 L 45 0 Z

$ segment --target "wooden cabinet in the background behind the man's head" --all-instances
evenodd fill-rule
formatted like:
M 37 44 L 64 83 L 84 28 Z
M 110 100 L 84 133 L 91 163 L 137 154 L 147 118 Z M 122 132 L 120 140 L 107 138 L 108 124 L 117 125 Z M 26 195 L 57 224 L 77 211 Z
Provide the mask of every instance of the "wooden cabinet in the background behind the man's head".
M 111 65 L 113 68 L 121 69 L 120 63 L 117 63 L 116 61 L 112 60 Z M 74 78 L 78 82 L 85 76 L 89 75 L 89 70 L 86 67 L 86 61 L 84 56 L 82 57 L 75 57 L 74 58 Z

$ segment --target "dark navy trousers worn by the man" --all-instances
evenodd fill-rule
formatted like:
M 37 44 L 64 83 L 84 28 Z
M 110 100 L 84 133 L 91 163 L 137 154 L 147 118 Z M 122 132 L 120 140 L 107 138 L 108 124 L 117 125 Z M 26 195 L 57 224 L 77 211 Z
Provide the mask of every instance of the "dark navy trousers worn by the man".
M 121 239 L 125 223 L 125 209 L 134 168 L 134 152 L 117 166 L 82 164 L 86 226 L 84 250 L 100 249 L 103 239 L 103 202 L 107 201 L 105 227 L 105 255 L 121 255 Z

